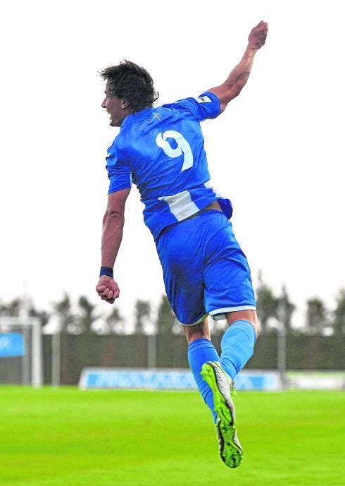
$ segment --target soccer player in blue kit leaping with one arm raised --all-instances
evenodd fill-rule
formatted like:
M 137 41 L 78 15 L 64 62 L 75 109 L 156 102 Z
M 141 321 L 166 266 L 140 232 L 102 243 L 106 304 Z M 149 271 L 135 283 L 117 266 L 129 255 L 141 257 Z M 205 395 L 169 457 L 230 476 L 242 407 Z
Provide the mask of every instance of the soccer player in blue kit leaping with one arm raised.
M 213 414 L 220 457 L 230 468 L 239 466 L 243 454 L 232 402 L 234 378 L 251 358 L 259 329 L 249 265 L 230 222 L 232 205 L 211 183 L 200 123 L 220 115 L 239 95 L 267 32 L 263 21 L 251 30 L 241 61 L 224 83 L 157 108 L 158 93 L 144 68 L 124 60 L 101 71 L 102 107 L 120 131 L 106 157 L 110 185 L 96 291 L 111 304 L 119 296 L 113 265 L 134 183 L 170 305 L 187 336 L 189 365 Z M 220 356 L 208 315 L 229 324 Z

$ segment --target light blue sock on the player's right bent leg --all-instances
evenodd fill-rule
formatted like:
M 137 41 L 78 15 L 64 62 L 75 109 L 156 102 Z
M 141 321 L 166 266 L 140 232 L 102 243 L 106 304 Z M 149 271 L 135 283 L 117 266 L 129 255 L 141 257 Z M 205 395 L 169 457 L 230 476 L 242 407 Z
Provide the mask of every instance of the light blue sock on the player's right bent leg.
M 220 363 L 232 379 L 253 355 L 255 341 L 253 324 L 244 320 L 235 321 L 222 336 Z

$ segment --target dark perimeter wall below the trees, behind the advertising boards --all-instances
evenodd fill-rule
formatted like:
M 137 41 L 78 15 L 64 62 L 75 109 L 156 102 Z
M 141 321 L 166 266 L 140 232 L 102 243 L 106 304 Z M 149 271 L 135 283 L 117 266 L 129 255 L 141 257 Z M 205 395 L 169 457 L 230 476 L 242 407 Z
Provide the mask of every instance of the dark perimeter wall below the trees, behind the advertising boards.
M 213 337 L 220 351 L 221 336 Z M 51 383 L 51 341 L 44 336 L 44 382 Z M 345 336 L 287 336 L 287 370 L 344 370 Z M 61 334 L 60 382 L 77 384 L 83 367 L 188 368 L 184 336 Z M 260 336 L 246 369 L 277 369 L 277 336 Z

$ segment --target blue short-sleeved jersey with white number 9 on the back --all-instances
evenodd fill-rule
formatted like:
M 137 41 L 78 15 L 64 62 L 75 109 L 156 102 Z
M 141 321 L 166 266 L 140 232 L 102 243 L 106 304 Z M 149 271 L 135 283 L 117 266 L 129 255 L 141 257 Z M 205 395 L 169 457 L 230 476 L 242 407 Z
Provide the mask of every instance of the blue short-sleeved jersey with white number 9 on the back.
M 129 115 L 109 147 L 108 194 L 134 183 L 153 238 L 218 200 L 230 219 L 232 205 L 211 184 L 200 122 L 220 114 L 218 97 L 205 92 Z

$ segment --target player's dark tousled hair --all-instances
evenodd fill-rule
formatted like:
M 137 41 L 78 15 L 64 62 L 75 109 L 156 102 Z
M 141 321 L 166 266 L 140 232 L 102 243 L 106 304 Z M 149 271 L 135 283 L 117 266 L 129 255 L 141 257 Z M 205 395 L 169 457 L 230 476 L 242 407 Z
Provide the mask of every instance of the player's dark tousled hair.
M 158 99 L 151 75 L 131 61 L 123 59 L 117 66 L 109 66 L 99 74 L 108 81 L 110 95 L 125 99 L 131 113 L 153 107 Z

